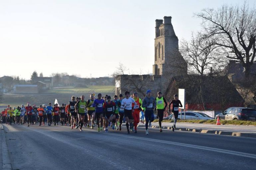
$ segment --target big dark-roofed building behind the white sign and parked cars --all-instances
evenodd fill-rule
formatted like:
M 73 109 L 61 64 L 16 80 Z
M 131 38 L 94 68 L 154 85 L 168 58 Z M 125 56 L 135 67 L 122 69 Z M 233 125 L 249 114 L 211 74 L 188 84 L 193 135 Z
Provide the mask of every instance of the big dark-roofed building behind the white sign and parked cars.
M 178 94 L 178 89 L 186 89 L 186 109 L 224 110 L 231 106 L 241 107 L 244 99 L 227 76 L 187 75 L 174 77 L 165 94 L 168 101 Z

